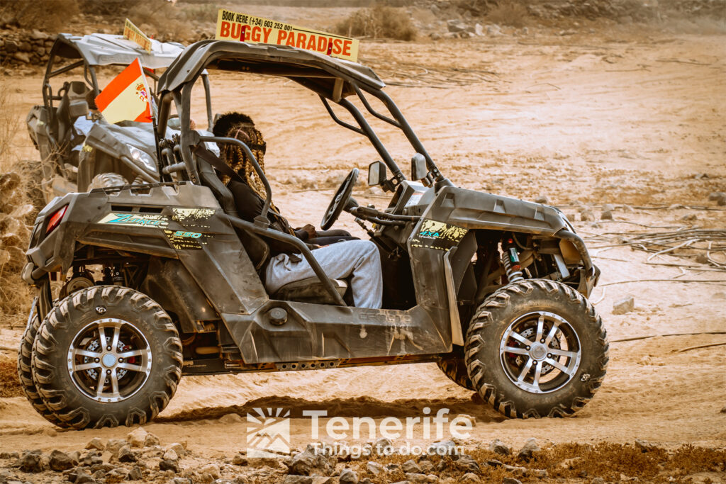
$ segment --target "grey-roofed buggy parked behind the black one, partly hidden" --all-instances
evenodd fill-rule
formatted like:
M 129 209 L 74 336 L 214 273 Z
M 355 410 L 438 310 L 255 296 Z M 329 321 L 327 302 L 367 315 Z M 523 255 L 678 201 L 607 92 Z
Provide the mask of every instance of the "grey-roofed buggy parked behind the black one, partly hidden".
M 46 202 L 56 195 L 89 188 L 158 181 L 151 123 L 124 121 L 112 125 L 99 119 L 87 136 L 74 123 L 89 115 L 89 91 L 94 96 L 100 91 L 99 66 L 125 67 L 138 58 L 144 73 L 156 83 L 158 71 L 168 67 L 183 49 L 176 42 L 152 40 L 151 52 L 146 52 L 123 36 L 58 34 L 43 78 L 43 104 L 33 106 L 27 118 L 30 139 L 41 157 Z M 51 82 L 58 79 L 63 82 L 54 90 Z M 206 73 L 203 83 L 211 118 Z

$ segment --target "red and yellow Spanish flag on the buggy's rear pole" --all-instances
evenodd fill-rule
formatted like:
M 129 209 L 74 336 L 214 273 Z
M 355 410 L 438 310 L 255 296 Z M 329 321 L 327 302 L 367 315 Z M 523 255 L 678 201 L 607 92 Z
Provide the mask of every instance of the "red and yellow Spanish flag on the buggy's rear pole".
M 131 120 L 151 123 L 151 91 L 138 57 L 96 97 L 96 105 L 108 123 Z

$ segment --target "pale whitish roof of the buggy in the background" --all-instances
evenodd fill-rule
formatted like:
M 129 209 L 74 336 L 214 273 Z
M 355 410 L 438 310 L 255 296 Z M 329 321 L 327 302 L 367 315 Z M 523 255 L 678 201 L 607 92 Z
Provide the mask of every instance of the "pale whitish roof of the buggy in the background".
M 129 65 L 138 57 L 144 67 L 159 69 L 168 67 L 184 50 L 177 42 L 151 40 L 151 52 L 123 36 L 108 33 L 90 33 L 74 36 L 59 33 L 56 38 L 56 54 L 67 59 L 83 59 L 89 65 Z

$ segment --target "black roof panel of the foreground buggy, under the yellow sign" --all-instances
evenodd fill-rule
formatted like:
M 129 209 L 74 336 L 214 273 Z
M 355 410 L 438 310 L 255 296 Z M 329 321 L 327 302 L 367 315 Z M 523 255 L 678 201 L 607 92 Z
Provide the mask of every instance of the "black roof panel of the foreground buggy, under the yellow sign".
M 386 86 L 370 67 L 297 47 L 240 41 L 199 41 L 184 49 L 159 79 L 159 92 L 193 81 L 204 68 L 280 75 L 290 78 L 342 78 L 372 89 Z

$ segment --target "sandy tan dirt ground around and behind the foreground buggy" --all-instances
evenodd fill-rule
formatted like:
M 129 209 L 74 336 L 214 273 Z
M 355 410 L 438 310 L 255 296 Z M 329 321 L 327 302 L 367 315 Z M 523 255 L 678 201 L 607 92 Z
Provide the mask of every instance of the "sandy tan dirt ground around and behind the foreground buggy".
M 663 255 L 648 263 L 648 254 L 611 247 L 595 236 L 646 229 L 638 223 L 725 226 L 725 208 L 708 200 L 710 192 L 726 189 L 725 59 L 722 35 L 666 35 L 648 28 L 596 28 L 568 36 L 531 29 L 468 41 L 362 45 L 362 62 L 392 81 L 386 91 L 454 184 L 526 200 L 545 195 L 575 219 L 580 202 L 595 218 L 603 204 L 616 206 L 613 221 L 575 222 L 591 237 L 600 284 L 618 283 L 598 287 L 592 296 L 612 342 L 611 359 L 603 387 L 575 417 L 507 420 L 447 380 L 435 364 L 416 364 L 185 377 L 146 430 L 163 442 L 185 440 L 201 456 L 229 456 L 245 447 L 245 422 L 219 417 L 244 415 L 256 406 L 324 408 L 330 417 L 377 419 L 414 417 L 430 406 L 476 417 L 472 444 L 494 438 L 515 447 L 532 437 L 540 443 L 639 438 L 666 447 L 724 448 L 725 347 L 693 347 L 725 343 L 726 335 L 663 336 L 726 331 L 724 272 L 655 265 L 683 259 Z M 274 201 L 293 224 L 317 224 L 340 175 L 354 167 L 364 173 L 377 159 L 365 139 L 333 124 L 319 99 L 294 83 L 212 77 L 216 111 L 242 110 L 265 134 Z M 39 99 L 41 75 L 11 75 L 9 81 L 24 117 Z M 406 173 L 412 149 L 386 126 L 374 127 Z M 17 136 L 17 152 L 35 155 L 25 133 Z M 354 196 L 387 204 L 375 190 L 360 188 Z M 337 226 L 362 233 L 347 214 Z M 724 262 L 724 253 L 713 257 Z M 679 278 L 714 283 L 675 282 Z M 635 296 L 635 310 L 614 315 L 613 302 L 626 295 Z M 20 329 L 0 330 L 2 345 L 15 346 L 19 337 Z M 292 428 L 293 446 L 311 441 L 308 419 L 293 419 Z M 72 450 L 94 437 L 129 432 L 50 429 L 25 398 L 0 398 L 0 451 Z M 724 474 L 710 478 L 726 480 Z

